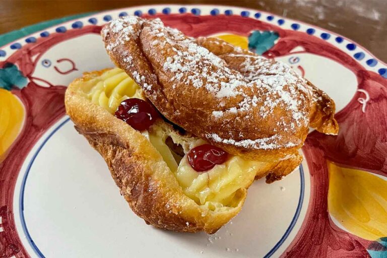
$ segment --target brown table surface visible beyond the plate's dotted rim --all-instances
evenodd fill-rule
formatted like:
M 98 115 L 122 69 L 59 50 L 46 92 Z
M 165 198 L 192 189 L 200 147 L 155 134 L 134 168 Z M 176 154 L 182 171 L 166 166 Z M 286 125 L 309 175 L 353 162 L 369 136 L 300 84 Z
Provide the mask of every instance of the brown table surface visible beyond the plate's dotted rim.
M 176 1 L 2 0 L 0 34 L 64 16 Z M 179 1 L 179 4 L 240 6 L 296 19 L 348 37 L 387 61 L 387 0 Z

